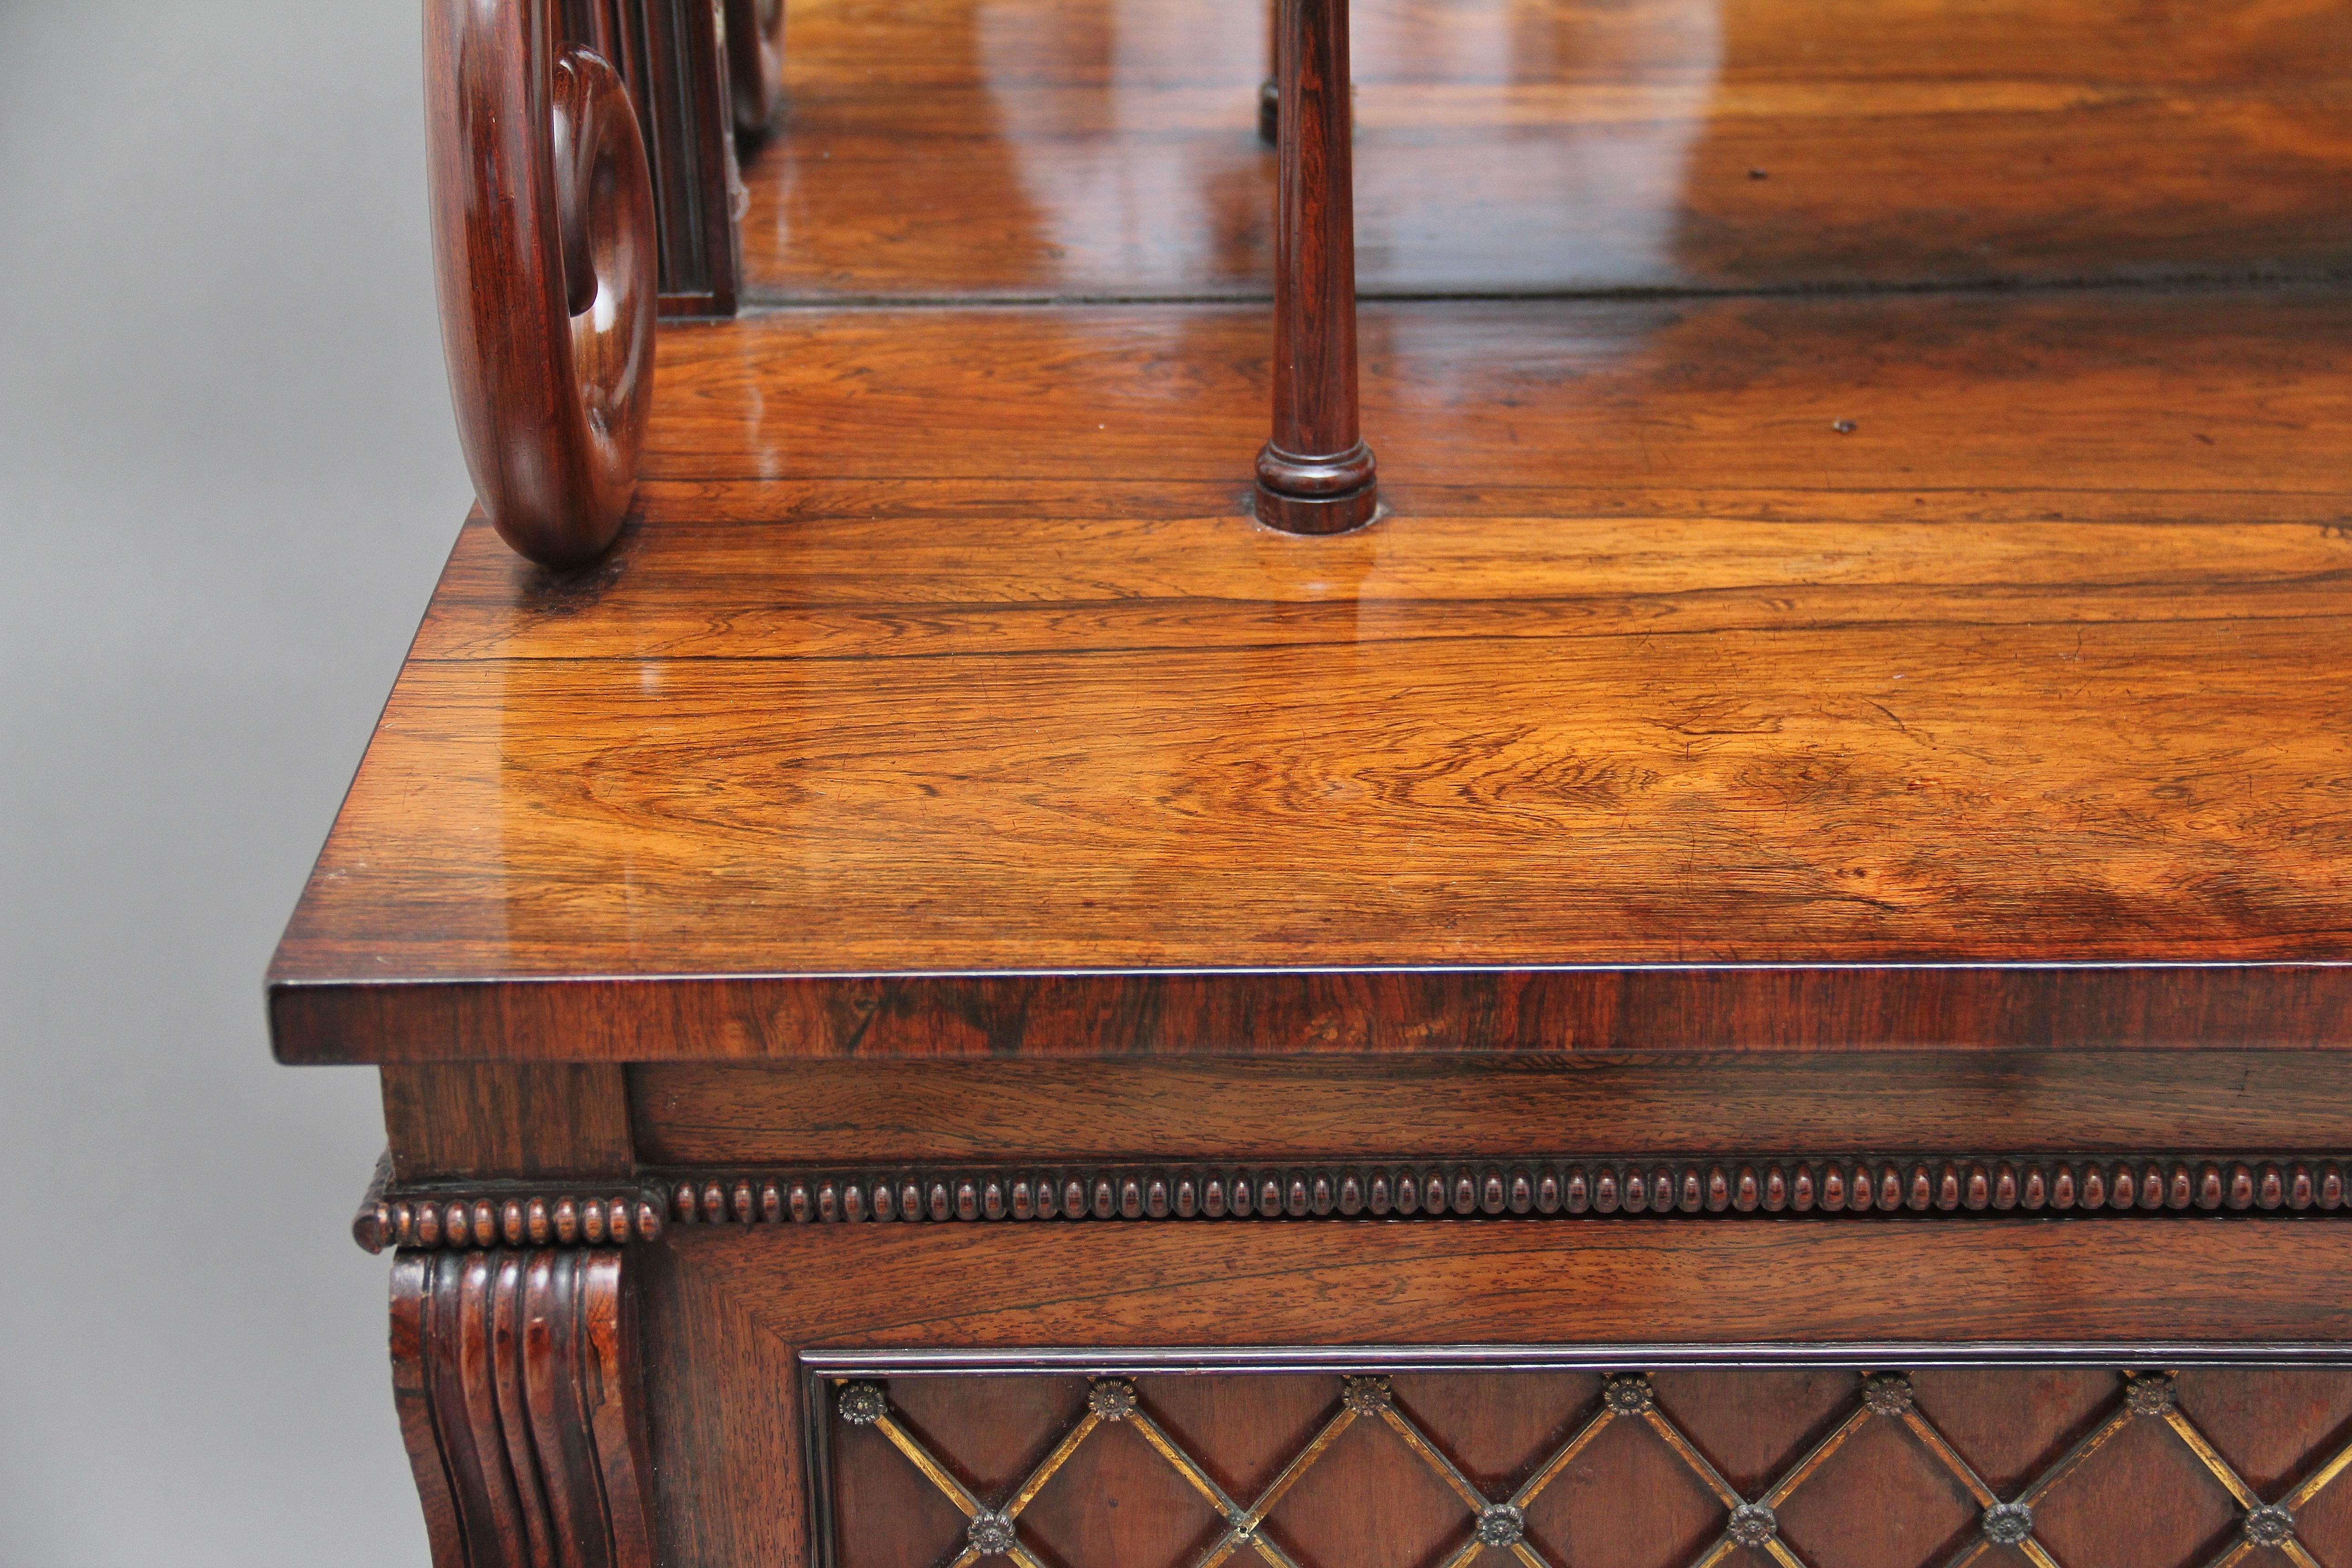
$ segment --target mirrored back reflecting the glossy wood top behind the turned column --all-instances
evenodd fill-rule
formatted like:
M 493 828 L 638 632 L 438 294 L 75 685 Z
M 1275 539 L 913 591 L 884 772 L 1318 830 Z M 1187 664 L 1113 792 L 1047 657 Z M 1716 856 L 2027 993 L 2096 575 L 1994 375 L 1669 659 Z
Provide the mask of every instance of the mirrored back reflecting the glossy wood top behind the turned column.
M 750 299 L 1256 294 L 1261 0 L 795 0 Z M 2333 275 L 2333 0 L 1359 0 L 1362 284 Z

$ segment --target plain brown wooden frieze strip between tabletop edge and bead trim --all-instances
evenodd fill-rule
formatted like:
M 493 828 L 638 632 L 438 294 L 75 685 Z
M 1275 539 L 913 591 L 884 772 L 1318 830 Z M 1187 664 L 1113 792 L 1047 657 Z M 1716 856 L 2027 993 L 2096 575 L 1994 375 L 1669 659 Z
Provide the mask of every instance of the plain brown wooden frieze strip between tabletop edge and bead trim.
M 666 1166 L 2227 1152 L 2352 1128 L 2321 1051 L 649 1063 L 628 1086 L 637 1154 Z

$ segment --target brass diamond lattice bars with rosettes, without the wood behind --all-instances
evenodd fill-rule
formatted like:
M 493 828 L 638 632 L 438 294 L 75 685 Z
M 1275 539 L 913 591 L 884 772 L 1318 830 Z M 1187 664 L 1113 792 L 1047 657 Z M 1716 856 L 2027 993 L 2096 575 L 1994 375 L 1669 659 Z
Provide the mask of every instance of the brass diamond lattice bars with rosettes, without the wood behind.
M 1971 1568 L 1987 1552 L 1999 1549 L 2016 1549 L 2034 1568 L 2091 1568 L 2089 1563 L 2063 1563 L 2049 1552 L 2049 1547 L 2042 1544 L 2034 1533 L 2034 1507 L 2053 1486 L 2058 1486 L 2058 1481 L 2082 1467 L 2093 1453 L 2105 1448 L 2136 1422 L 2154 1422 L 2161 1427 L 2171 1441 L 2176 1441 L 2206 1474 L 2213 1476 L 2213 1481 L 2220 1483 L 2237 1507 L 2237 1528 L 2232 1540 L 2216 1556 L 2211 1556 L 2204 1568 L 2239 1568 L 2241 1559 L 2265 1549 L 2284 1554 L 2296 1563 L 2296 1568 L 2326 1568 L 2298 1537 L 2296 1516 L 2328 1483 L 2352 1467 L 2352 1443 L 2331 1448 L 2317 1465 L 2305 1469 L 2300 1481 L 2284 1486 L 2277 1497 L 2265 1500 L 2206 1439 L 2197 1422 L 2190 1420 L 2187 1410 L 2180 1408 L 2173 1378 L 2166 1373 L 2140 1373 L 2126 1378 L 2124 1387 L 2114 1394 L 2107 1408 L 2098 1413 L 2096 1425 L 2091 1425 L 2079 1441 L 2074 1441 L 2056 1462 L 2046 1465 L 2030 1481 L 2011 1488 L 2011 1495 L 2004 1497 L 1985 1483 L 1978 1469 L 1962 1458 L 1952 1441 L 1919 1408 L 1912 1394 L 1912 1382 L 1905 1373 L 1875 1371 L 1856 1375 L 1853 1392 L 1825 1436 L 1813 1441 L 1769 1486 L 1755 1495 L 1743 1495 L 1722 1476 L 1708 1455 L 1700 1453 L 1700 1448 L 1684 1434 L 1668 1410 L 1661 1408 L 1651 1389 L 1651 1380 L 1644 1373 L 1618 1373 L 1606 1378 L 1599 1408 L 1588 1420 L 1576 1425 L 1564 1443 L 1543 1458 L 1526 1474 L 1526 1479 L 1510 1490 L 1510 1495 L 1489 1497 L 1451 1458 L 1446 1458 L 1444 1448 L 1432 1441 L 1423 1425 L 1399 1406 L 1388 1378 L 1355 1375 L 1341 1380 L 1336 1408 L 1331 1408 L 1329 1418 L 1322 1420 L 1312 1436 L 1308 1436 L 1308 1441 L 1289 1455 L 1272 1481 L 1268 1481 L 1254 1500 L 1242 1502 L 1228 1495 L 1209 1469 L 1181 1441 L 1176 1441 L 1160 1420 L 1152 1418 L 1134 1382 L 1124 1378 L 1096 1378 L 1087 1387 L 1084 1410 L 1080 1410 L 1077 1420 L 1061 1432 L 1044 1460 L 1000 1500 L 990 1502 L 964 1486 L 964 1481 L 960 1481 L 955 1472 L 941 1462 L 924 1446 L 924 1441 L 915 1436 L 915 1432 L 910 1432 L 908 1422 L 891 1406 L 884 1385 L 870 1380 L 840 1380 L 835 1385 L 835 1401 L 844 1422 L 854 1427 L 870 1427 L 882 1434 L 917 1472 L 922 1472 L 922 1476 L 929 1479 L 934 1488 L 938 1488 L 948 1502 L 955 1505 L 957 1512 L 962 1512 L 962 1540 L 941 1542 L 941 1561 L 950 1563 L 950 1568 L 971 1568 L 988 1556 L 1009 1556 L 1021 1563 L 1021 1568 L 1049 1568 L 1047 1561 L 1040 1561 L 1035 1544 L 1023 1540 L 1021 1516 L 1047 1488 L 1047 1483 L 1070 1462 L 1070 1458 L 1077 1455 L 1080 1448 L 1110 1422 L 1129 1425 L 1136 1436 L 1141 1436 L 1150 1450 L 1157 1453 L 1174 1469 L 1174 1474 L 1181 1476 L 1185 1486 L 1197 1490 L 1200 1497 L 1204 1497 L 1216 1512 L 1216 1519 L 1221 1521 L 1216 1537 L 1190 1561 L 1190 1568 L 1218 1568 L 1242 1552 L 1254 1552 L 1272 1568 L 1298 1568 L 1291 1552 L 1284 1549 L 1268 1523 L 1284 1495 L 1289 1495 L 1294 1486 L 1331 1450 L 1341 1434 L 1357 1422 L 1374 1422 L 1376 1427 L 1390 1432 L 1461 1502 L 1461 1537 L 1437 1559 L 1444 1568 L 1468 1568 L 1489 1552 L 1515 1556 L 1529 1568 L 1573 1568 L 1566 1563 L 1552 1563 L 1552 1559 L 1538 1549 L 1538 1544 L 1529 1537 L 1526 1512 L 1545 1488 L 1576 1465 L 1578 1455 L 1585 1453 L 1595 1439 L 1602 1436 L 1602 1432 L 1621 1422 L 1632 1422 L 1663 1443 L 1663 1448 L 1698 1479 L 1722 1509 L 1712 1542 L 1689 1561 L 1689 1568 L 1719 1568 L 1724 1559 L 1740 1549 L 1762 1552 L 1771 1556 L 1778 1568 L 1816 1568 L 1783 1540 L 1778 1509 L 1802 1486 L 1806 1486 L 1806 1481 L 1811 1481 L 1839 1448 L 1844 1448 L 1858 1432 L 1863 1432 L 1863 1427 L 1872 1422 L 1893 1422 L 1907 1432 L 1917 1448 L 1933 1460 L 1936 1467 L 1952 1476 L 1978 1509 L 1973 1537 L 1943 1568 Z

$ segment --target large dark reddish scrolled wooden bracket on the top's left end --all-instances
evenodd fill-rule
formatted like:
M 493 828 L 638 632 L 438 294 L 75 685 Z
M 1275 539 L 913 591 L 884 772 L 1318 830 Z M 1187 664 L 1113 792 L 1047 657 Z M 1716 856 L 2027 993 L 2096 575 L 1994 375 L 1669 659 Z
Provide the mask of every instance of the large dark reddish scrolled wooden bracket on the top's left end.
M 426 0 L 442 348 L 482 512 L 548 567 L 621 531 L 654 400 L 654 186 L 637 113 L 550 0 Z

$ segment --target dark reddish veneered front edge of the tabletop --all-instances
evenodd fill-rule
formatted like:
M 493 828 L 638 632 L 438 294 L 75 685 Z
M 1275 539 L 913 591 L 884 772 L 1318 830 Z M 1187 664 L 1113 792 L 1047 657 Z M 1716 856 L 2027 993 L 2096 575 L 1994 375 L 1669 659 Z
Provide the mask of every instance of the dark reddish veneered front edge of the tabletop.
M 280 1060 L 2340 1051 L 2340 964 L 280 980 Z

